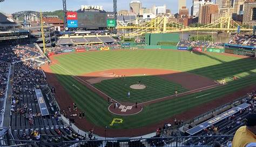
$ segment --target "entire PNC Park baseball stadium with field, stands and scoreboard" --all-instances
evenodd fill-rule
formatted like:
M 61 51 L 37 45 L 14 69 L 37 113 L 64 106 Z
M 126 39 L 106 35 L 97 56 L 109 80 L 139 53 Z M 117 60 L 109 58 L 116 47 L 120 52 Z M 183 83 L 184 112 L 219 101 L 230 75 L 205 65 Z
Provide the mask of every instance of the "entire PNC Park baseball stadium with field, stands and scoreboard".
M 63 12 L 0 13 L 0 146 L 235 146 L 254 133 L 256 27 L 131 25 L 65 0 Z

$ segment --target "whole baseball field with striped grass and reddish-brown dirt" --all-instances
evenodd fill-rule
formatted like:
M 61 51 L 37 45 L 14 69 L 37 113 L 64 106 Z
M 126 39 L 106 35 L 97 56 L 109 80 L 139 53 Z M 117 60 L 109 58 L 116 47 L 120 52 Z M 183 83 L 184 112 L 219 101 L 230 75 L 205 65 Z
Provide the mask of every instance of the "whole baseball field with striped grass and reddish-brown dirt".
M 256 61 L 229 54 L 110 50 L 59 54 L 51 60 L 43 70 L 56 87 L 60 108 L 80 129 L 102 136 L 105 126 L 110 137 L 151 133 L 174 118 L 190 120 L 256 87 Z M 225 84 L 219 84 L 223 79 Z M 68 112 L 73 102 L 78 111 Z M 79 112 L 85 112 L 84 119 L 72 116 Z

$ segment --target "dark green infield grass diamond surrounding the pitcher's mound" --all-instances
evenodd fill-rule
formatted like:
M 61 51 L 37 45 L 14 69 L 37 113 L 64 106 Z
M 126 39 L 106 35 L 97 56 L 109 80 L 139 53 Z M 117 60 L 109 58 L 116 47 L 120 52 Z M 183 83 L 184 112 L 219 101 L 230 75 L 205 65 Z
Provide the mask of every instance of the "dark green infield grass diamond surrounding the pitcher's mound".
M 130 88 L 130 85 L 137 84 L 138 81 L 141 81 L 146 86 L 146 89 L 135 90 Z M 123 78 L 103 80 L 93 86 L 106 93 L 114 100 L 133 103 L 173 95 L 176 90 L 179 93 L 187 91 L 179 84 L 169 82 L 156 76 L 126 77 L 125 80 Z M 127 97 L 127 92 L 129 91 L 131 93 L 130 98 Z

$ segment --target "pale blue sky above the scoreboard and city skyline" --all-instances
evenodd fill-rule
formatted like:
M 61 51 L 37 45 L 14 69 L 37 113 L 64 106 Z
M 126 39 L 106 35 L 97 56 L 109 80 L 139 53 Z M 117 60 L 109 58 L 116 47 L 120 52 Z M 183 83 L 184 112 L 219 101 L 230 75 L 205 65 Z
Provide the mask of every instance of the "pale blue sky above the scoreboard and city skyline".
M 129 10 L 130 0 L 117 0 L 118 10 Z M 143 7 L 166 4 L 171 13 L 178 12 L 178 0 L 140 0 Z M 66 0 L 68 10 L 78 10 L 81 5 L 102 5 L 106 11 L 113 11 L 113 0 Z M 187 8 L 191 8 L 192 0 L 186 0 Z M 62 0 L 5 0 L 0 3 L 0 12 L 14 13 L 18 11 L 55 11 L 63 9 Z

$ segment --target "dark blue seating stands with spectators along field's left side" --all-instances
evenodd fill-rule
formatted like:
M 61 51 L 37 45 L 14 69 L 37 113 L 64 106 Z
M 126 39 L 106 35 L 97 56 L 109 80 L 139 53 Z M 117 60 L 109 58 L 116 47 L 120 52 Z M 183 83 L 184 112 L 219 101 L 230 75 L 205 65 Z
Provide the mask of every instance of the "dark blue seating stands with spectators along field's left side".
M 4 104 L 2 100 L 6 92 L 9 65 L 10 62 L 16 62 L 12 64 L 13 71 L 10 77 L 12 95 L 9 96 L 11 102 L 10 126 L 13 139 L 37 141 L 41 135 L 61 135 L 64 141 L 84 140 L 85 136 L 75 133 L 60 118 L 59 109 L 52 97 L 46 77 L 40 69 L 40 65 L 47 61 L 42 52 L 34 45 L 2 45 L 0 49 L 3 51 L 0 53 L 1 109 Z M 27 60 L 33 57 L 36 58 Z M 35 89 L 42 90 L 50 115 L 41 115 Z M 47 142 L 57 142 L 58 139 L 59 137 L 49 138 Z

